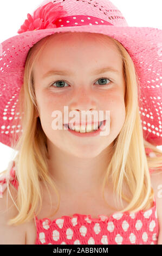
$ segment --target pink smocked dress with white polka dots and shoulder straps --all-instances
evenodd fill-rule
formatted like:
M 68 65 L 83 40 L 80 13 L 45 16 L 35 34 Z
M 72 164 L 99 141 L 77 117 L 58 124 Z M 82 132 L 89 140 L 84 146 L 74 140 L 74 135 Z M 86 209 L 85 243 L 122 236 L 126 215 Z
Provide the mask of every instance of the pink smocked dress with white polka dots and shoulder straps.
M 153 156 L 154 153 L 146 149 L 146 154 Z M 14 168 L 13 162 L 10 181 L 17 189 Z M 0 175 L 0 197 L 3 197 L 6 187 L 5 176 Z M 49 218 L 40 220 L 34 215 L 34 219 L 37 230 L 35 245 L 156 245 L 159 236 L 155 198 L 152 208 L 135 214 L 114 212 L 109 217 L 98 215 L 98 218 L 74 214 L 53 221 Z

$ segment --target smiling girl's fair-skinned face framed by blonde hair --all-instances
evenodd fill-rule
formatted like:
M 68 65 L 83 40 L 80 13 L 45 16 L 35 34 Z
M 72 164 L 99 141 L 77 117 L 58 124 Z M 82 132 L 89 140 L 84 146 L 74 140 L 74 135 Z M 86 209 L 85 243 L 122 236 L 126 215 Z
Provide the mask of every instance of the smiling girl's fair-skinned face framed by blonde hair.
M 118 72 L 97 74 L 95 70 L 111 66 Z M 67 75 L 50 75 L 50 70 L 69 70 Z M 72 73 L 72 74 L 71 74 Z M 105 78 L 101 81 L 101 78 Z M 57 34 L 44 47 L 34 65 L 35 94 L 38 115 L 48 148 L 59 148 L 77 157 L 95 157 L 111 147 L 125 121 L 125 80 L 118 48 L 107 39 L 96 40 L 93 34 Z M 60 86 L 61 85 L 61 86 Z M 68 130 L 54 130 L 54 111 L 62 113 L 64 106 L 70 111 L 106 111 L 110 113 L 110 131 L 107 136 L 77 137 Z M 69 116 L 68 116 L 69 117 Z M 74 116 L 69 117 L 70 121 Z M 81 119 L 80 119 L 81 122 Z

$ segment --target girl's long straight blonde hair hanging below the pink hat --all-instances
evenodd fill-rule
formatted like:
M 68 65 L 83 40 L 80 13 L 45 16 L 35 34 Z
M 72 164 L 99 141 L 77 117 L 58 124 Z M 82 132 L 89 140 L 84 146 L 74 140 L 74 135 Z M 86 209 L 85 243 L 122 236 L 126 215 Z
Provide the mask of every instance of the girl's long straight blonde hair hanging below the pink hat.
M 64 35 L 70 32 L 63 33 Z M 56 33 L 57 34 L 57 33 Z M 56 35 L 49 35 L 35 44 L 28 53 L 25 70 L 24 84 L 19 95 L 17 111 L 20 112 L 22 119 L 22 135 L 12 147 L 18 151 L 14 161 L 16 164 L 16 178 L 18 180 L 17 204 L 11 196 L 9 190 L 9 180 L 7 180 L 8 191 L 18 209 L 16 217 L 9 220 L 8 224 L 18 225 L 30 221 L 34 217 L 34 212 L 38 208 L 38 213 L 42 208 L 42 194 L 40 182 L 47 187 L 47 183 L 54 188 L 59 198 L 59 203 L 54 214 L 60 206 L 60 194 L 56 189 L 54 180 L 51 179 L 48 171 L 48 147 L 47 137 L 42 130 L 40 118 L 36 118 L 37 104 L 34 89 L 33 66 L 40 56 L 43 48 L 50 39 Z M 85 33 L 88 35 L 88 33 Z M 123 61 L 123 71 L 126 82 L 125 107 L 126 119 L 119 135 L 114 140 L 112 159 L 107 167 L 107 172 L 102 184 L 102 193 L 106 182 L 112 179 L 114 193 L 118 196 L 118 201 L 124 198 L 129 204 L 120 212 L 137 212 L 141 209 L 149 209 L 153 200 L 153 190 L 151 188 L 151 178 L 149 168 L 159 171 L 162 163 L 162 151 L 154 145 L 148 143 L 143 138 L 142 126 L 139 113 L 138 96 L 140 89 L 137 72 L 134 63 L 126 51 L 125 47 L 113 38 L 107 35 L 93 33 L 97 40 L 106 42 L 110 39 L 118 48 Z M 153 152 L 159 155 L 148 157 L 145 148 L 151 148 Z M 8 172 L 10 169 L 8 168 Z M 123 193 L 123 184 L 127 185 L 128 194 Z M 47 187 L 48 190 L 48 187 Z M 49 193 L 50 196 L 50 193 Z M 103 198 L 104 194 L 103 194 Z M 51 202 L 51 197 L 50 197 Z M 122 201 L 121 201 L 122 203 Z M 38 213 L 35 212 L 37 215 Z M 54 216 L 54 214 L 52 216 Z M 51 216 L 50 216 L 51 217 Z

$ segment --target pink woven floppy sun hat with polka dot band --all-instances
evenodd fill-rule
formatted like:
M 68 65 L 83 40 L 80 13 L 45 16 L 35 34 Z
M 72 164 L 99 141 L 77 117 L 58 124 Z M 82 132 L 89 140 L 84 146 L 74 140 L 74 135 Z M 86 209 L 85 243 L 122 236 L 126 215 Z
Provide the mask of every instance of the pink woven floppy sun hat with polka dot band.
M 131 56 L 140 83 L 139 111 L 146 141 L 162 145 L 162 32 L 129 27 L 120 10 L 108 0 L 44 1 L 27 15 L 18 35 L 0 45 L 0 142 L 12 147 L 13 134 L 23 132 L 15 112 L 23 84 L 27 54 L 36 42 L 56 32 L 90 32 L 118 40 Z

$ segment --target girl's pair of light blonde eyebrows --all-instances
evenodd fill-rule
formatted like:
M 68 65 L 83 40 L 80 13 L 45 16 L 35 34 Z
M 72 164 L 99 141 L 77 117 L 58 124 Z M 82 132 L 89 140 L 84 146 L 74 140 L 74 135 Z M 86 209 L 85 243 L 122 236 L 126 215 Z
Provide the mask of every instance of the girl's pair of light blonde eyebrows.
M 114 69 L 112 66 L 108 66 L 107 68 L 97 69 L 93 71 L 92 75 L 100 75 L 108 71 L 119 73 L 119 70 Z M 44 74 L 42 78 L 46 78 L 48 76 L 54 76 L 54 75 L 74 75 L 74 73 L 70 72 L 70 70 L 50 70 L 46 74 Z

